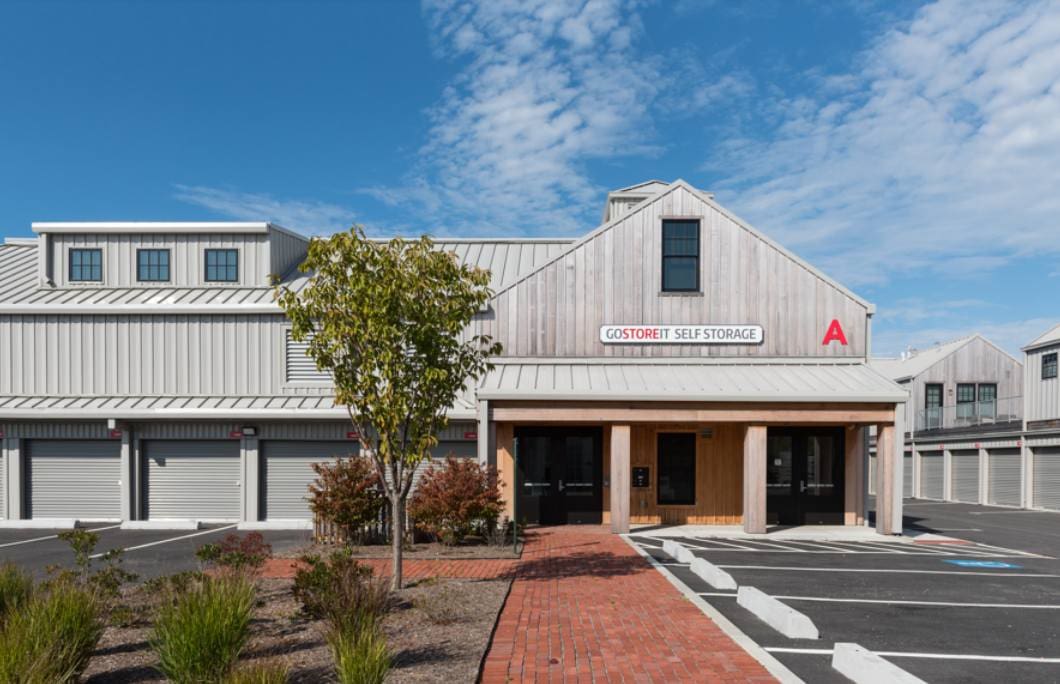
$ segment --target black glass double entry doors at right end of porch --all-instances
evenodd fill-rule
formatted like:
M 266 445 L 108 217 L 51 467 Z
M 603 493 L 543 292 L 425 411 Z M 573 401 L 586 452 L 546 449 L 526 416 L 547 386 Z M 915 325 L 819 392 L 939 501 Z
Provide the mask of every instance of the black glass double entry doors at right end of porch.
M 771 427 L 766 520 L 779 525 L 843 524 L 845 458 L 842 427 Z

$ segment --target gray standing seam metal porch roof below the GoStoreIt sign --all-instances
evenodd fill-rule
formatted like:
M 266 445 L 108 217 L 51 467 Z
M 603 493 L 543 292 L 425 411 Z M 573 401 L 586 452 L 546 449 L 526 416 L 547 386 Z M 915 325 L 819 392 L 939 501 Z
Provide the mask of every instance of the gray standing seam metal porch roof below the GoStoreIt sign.
M 903 402 L 863 362 L 499 359 L 480 399 L 542 401 Z

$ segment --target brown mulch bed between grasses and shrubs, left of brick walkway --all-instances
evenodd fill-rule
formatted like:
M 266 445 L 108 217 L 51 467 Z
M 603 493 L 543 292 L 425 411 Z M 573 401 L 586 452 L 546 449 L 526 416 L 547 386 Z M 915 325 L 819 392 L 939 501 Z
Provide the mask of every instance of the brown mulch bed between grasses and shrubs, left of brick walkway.
M 510 579 L 409 582 L 384 621 L 393 682 L 472 682 L 505 602 Z M 292 682 L 332 682 L 332 657 L 320 620 L 306 619 L 289 579 L 259 580 L 253 636 L 241 663 L 282 661 Z M 125 604 L 137 612 L 131 625 L 108 627 L 89 663 L 87 682 L 164 682 L 154 669 L 149 613 L 154 597 L 129 589 Z

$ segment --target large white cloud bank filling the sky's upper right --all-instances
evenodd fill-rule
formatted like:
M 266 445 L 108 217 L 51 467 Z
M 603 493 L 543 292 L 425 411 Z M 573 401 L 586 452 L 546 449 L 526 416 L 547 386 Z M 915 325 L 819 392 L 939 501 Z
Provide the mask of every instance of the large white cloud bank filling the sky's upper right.
M 1060 5 L 941 0 L 773 103 L 720 198 L 853 285 L 1060 251 Z

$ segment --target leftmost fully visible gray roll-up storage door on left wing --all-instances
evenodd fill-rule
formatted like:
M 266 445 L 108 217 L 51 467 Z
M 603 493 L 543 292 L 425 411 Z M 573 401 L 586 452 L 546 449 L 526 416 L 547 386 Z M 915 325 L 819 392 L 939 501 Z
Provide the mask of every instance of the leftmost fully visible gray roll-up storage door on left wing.
M 120 440 L 30 439 L 23 463 L 28 518 L 121 520 Z

